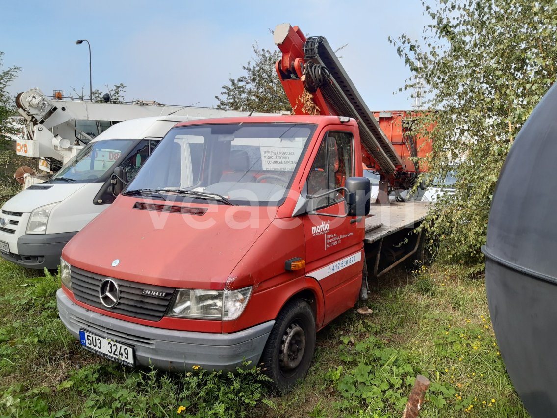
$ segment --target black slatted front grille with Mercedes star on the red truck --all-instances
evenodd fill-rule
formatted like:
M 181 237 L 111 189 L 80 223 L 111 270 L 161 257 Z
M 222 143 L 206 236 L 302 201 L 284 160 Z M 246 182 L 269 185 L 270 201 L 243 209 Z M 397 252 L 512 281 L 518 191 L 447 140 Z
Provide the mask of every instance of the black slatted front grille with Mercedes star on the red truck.
M 114 308 L 109 309 L 101 303 L 99 298 L 99 287 L 102 281 L 108 278 L 108 276 L 71 267 L 71 288 L 75 298 L 80 302 L 132 318 L 150 321 L 162 319 L 170 299 L 172 299 L 174 288 L 111 278 L 118 284 L 120 299 Z M 163 298 L 155 298 L 142 294 L 143 290 L 158 291 L 165 295 Z

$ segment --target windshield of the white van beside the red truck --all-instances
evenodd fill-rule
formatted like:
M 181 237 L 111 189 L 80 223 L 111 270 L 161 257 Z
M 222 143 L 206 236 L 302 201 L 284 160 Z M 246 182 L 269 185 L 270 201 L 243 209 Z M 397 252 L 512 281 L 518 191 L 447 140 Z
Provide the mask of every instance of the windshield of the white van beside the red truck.
M 94 183 L 104 176 L 136 141 L 110 139 L 91 142 L 58 171 L 51 181 Z

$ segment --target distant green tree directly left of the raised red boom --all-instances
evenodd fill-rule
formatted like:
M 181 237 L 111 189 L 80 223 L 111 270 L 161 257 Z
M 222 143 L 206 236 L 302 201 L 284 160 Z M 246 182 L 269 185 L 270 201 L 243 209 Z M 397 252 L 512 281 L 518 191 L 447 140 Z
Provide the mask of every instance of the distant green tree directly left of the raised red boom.
M 275 72 L 275 62 L 280 60 L 280 51 L 260 48 L 252 45 L 255 58 L 248 61 L 242 69 L 245 75 L 237 79 L 229 79 L 230 85 L 222 86 L 221 99 L 217 108 L 258 112 L 274 112 L 278 110 L 292 110 L 288 98 Z

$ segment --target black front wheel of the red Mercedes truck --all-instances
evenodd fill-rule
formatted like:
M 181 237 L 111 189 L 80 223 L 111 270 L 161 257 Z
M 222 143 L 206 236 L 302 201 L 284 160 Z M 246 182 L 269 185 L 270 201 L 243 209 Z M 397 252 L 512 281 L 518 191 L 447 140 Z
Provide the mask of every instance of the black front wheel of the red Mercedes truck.
M 301 299 L 287 303 L 275 321 L 261 356 L 272 386 L 286 392 L 305 377 L 315 351 L 315 318 Z

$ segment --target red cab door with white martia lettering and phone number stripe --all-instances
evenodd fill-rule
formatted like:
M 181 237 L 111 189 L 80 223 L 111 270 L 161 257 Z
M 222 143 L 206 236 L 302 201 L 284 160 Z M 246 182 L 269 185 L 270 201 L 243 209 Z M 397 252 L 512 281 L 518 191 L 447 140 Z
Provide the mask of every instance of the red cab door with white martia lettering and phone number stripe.
M 349 132 L 325 134 L 307 177 L 307 195 L 344 187 L 354 176 L 354 138 Z M 302 217 L 306 236 L 307 276 L 319 281 L 325 297 L 325 323 L 353 307 L 363 270 L 364 229 L 346 214 L 344 191 L 311 199 L 314 214 Z M 333 215 L 333 216 L 330 216 Z

